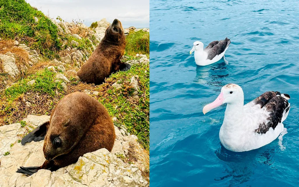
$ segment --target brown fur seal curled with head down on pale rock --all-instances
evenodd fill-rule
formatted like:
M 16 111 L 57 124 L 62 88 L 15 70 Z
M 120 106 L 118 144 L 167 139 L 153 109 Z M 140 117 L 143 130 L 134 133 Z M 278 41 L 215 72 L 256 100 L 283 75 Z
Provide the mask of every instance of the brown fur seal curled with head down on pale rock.
M 36 127 L 21 143 L 42 139 L 45 139 L 44 164 L 20 167 L 16 172 L 32 175 L 39 169 L 56 171 L 77 162 L 85 153 L 101 148 L 111 151 L 115 131 L 102 104 L 85 93 L 75 92 L 62 98 L 51 113 L 50 121 Z

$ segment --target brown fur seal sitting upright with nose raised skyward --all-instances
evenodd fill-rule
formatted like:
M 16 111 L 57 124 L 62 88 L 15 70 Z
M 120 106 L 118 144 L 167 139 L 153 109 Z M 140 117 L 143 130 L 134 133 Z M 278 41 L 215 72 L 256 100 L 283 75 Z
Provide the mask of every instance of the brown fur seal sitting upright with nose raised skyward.
M 130 69 L 130 65 L 122 63 L 125 52 L 126 36 L 118 19 L 107 27 L 105 36 L 95 51 L 83 64 L 77 75 L 83 82 L 101 84 L 112 72 Z

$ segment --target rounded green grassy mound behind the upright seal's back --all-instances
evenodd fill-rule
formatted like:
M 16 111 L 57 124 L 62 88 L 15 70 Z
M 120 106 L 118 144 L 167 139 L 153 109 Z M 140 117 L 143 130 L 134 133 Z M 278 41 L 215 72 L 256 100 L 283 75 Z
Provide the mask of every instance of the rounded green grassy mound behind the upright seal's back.
M 131 31 L 126 37 L 126 52 L 130 55 L 149 54 L 149 33 Z

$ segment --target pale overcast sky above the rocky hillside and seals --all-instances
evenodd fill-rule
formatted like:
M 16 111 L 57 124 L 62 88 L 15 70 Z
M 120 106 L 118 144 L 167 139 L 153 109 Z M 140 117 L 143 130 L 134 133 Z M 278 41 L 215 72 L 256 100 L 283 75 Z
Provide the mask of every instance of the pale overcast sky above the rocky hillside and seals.
M 71 22 L 78 18 L 85 25 L 106 18 L 108 22 L 117 18 L 124 28 L 149 28 L 149 0 L 26 0 L 51 18 L 60 16 Z

